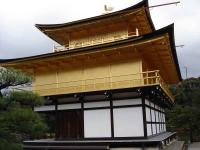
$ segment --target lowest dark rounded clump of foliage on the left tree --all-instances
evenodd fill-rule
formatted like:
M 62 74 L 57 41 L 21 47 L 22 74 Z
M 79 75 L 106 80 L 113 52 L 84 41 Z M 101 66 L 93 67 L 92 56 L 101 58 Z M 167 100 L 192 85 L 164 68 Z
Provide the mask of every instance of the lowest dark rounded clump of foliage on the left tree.
M 47 129 L 39 114 L 30 108 L 14 109 L 4 114 L 1 119 L 0 121 L 3 121 L 10 132 L 9 141 L 11 142 L 42 137 Z

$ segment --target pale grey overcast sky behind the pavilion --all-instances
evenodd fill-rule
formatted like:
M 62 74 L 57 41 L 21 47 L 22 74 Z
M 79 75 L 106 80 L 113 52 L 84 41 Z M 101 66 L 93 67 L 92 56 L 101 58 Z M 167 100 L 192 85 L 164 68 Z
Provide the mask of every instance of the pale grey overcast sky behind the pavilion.
M 175 23 L 176 45 L 183 78 L 200 76 L 200 0 L 180 0 L 176 5 L 151 9 L 156 29 Z M 53 41 L 34 24 L 66 23 L 103 13 L 104 4 L 114 11 L 140 0 L 0 0 L 0 59 L 52 52 Z M 150 5 L 175 0 L 149 0 Z

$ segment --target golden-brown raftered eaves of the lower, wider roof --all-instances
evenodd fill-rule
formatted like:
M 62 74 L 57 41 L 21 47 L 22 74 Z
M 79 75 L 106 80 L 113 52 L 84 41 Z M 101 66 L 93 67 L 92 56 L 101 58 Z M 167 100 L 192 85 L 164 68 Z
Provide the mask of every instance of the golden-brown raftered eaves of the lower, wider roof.
M 13 60 L 2 60 L 1 65 L 16 68 L 52 69 L 66 66 L 80 66 L 83 62 L 115 61 L 126 58 L 142 58 L 152 70 L 170 72 L 167 83 L 181 80 L 177 56 L 173 44 L 173 25 L 139 37 L 130 37 L 120 41 L 66 50 L 57 53 L 38 55 Z M 98 64 L 96 63 L 96 64 Z M 164 71 L 163 71 L 164 70 Z

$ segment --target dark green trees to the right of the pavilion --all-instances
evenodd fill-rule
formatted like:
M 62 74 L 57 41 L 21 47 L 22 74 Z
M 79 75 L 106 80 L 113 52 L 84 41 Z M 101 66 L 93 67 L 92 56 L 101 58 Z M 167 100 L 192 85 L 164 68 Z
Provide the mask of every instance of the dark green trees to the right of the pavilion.
M 167 111 L 168 128 L 191 142 L 200 140 L 200 78 L 190 78 L 171 87 L 175 106 Z

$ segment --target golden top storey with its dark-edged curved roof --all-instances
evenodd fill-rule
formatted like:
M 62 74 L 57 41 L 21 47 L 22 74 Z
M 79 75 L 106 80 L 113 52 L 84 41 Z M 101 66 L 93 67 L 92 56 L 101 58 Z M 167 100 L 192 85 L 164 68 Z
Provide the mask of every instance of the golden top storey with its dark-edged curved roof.
M 36 24 L 36 27 L 62 47 L 54 51 L 87 47 L 153 32 L 148 1 L 117 12 L 64 24 Z

